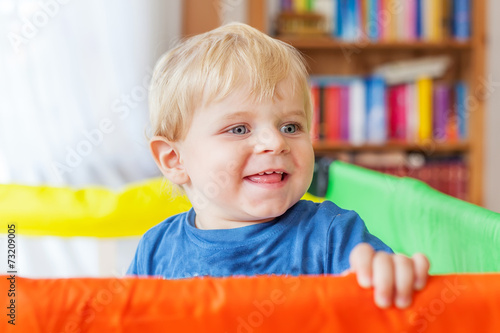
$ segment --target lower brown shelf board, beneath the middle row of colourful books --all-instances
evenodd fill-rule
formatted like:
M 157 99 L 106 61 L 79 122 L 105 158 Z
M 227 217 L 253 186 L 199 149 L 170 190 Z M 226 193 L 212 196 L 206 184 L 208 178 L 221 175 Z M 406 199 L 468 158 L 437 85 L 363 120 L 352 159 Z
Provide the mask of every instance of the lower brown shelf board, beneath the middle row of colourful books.
M 389 152 L 389 151 L 416 151 L 422 153 L 466 153 L 469 151 L 468 142 L 435 142 L 408 143 L 391 141 L 384 144 L 352 145 L 346 142 L 317 141 L 313 143 L 316 152 Z

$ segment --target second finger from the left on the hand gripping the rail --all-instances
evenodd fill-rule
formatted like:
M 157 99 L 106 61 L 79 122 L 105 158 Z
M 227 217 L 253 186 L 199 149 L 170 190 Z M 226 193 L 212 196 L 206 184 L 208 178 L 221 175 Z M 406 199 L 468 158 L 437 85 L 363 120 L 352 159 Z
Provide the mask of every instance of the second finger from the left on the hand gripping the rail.
M 392 304 L 394 294 L 394 267 L 392 255 L 379 251 L 373 258 L 373 288 L 375 303 L 380 308 Z

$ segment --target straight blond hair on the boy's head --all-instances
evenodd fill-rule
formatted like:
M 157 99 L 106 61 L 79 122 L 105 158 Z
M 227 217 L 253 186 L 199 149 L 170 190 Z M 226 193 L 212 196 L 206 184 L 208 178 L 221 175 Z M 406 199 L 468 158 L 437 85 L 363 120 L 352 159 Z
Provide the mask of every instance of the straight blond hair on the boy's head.
M 201 103 L 223 99 L 249 83 L 254 98 L 279 97 L 277 85 L 291 79 L 304 95 L 310 128 L 307 68 L 292 46 L 246 24 L 231 23 L 185 40 L 157 62 L 149 95 L 153 135 L 182 140 Z

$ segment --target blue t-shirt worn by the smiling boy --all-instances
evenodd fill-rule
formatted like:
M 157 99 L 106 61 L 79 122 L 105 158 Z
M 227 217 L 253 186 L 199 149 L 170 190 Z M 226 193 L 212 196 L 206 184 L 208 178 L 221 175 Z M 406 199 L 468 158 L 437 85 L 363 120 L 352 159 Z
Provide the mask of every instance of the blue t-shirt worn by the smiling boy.
M 148 230 L 127 271 L 167 279 L 194 276 L 338 274 L 361 242 L 392 252 L 354 211 L 330 201 L 301 200 L 272 221 L 235 229 L 201 230 L 195 212 Z

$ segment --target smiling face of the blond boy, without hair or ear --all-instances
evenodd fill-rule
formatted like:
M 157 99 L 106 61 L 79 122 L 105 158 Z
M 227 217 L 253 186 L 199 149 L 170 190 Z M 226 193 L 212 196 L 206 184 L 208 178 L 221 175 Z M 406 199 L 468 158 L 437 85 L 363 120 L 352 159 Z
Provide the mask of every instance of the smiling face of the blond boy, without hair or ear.
M 306 192 L 314 152 L 301 93 L 258 102 L 248 89 L 195 111 L 179 154 L 199 228 L 234 228 L 283 214 Z

